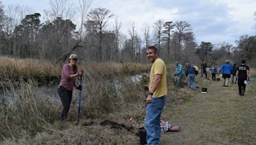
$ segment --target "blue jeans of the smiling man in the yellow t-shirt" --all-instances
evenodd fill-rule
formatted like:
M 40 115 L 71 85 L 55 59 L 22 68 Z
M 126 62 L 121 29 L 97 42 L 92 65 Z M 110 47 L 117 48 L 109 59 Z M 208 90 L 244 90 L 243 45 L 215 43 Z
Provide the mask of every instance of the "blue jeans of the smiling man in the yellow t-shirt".
M 147 105 L 145 128 L 147 131 L 147 144 L 160 144 L 161 127 L 160 117 L 166 96 L 160 98 L 152 98 L 152 102 Z

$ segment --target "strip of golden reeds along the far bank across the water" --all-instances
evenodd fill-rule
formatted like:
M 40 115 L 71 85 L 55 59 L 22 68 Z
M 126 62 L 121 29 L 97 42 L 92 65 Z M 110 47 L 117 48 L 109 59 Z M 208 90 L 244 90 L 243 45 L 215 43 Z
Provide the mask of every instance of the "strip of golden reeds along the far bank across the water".
M 11 57 L 0 57 L 0 79 L 1 81 L 12 81 L 13 84 L 23 79 L 28 81 L 34 79 L 38 85 L 57 84 L 61 77 L 61 67 L 63 64 L 52 64 L 49 61 L 40 61 L 38 59 L 17 59 Z M 78 63 L 79 70 L 85 74 L 88 72 L 94 74 L 140 74 L 147 72 L 150 67 L 148 64 L 122 64 L 122 63 Z M 103 73 L 102 73 L 103 72 Z M 5 83 L 3 84 L 5 85 Z M 7 84 L 6 84 L 7 85 Z

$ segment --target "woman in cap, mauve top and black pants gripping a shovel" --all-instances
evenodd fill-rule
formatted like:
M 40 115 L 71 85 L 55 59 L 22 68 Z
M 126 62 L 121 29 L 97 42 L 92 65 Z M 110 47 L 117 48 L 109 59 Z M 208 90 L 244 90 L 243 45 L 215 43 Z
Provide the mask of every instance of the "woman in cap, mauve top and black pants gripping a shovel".
M 77 71 L 77 55 L 72 54 L 68 59 L 68 64 L 64 64 L 61 71 L 60 86 L 57 89 L 60 96 L 63 109 L 61 111 L 61 120 L 67 119 L 67 114 L 72 100 L 72 90 L 75 86 L 78 90 L 82 90 L 82 86 L 75 81 L 76 77 L 83 76 L 83 71 Z

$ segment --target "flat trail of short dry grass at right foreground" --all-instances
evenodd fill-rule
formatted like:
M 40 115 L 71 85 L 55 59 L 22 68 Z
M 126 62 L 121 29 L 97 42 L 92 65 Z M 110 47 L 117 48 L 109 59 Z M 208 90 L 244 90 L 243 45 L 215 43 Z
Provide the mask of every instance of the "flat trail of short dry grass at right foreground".
M 237 85 L 222 83 L 207 81 L 207 94 L 198 91 L 189 102 L 164 114 L 182 131 L 162 134 L 161 144 L 256 144 L 256 82 L 247 86 L 243 97 Z

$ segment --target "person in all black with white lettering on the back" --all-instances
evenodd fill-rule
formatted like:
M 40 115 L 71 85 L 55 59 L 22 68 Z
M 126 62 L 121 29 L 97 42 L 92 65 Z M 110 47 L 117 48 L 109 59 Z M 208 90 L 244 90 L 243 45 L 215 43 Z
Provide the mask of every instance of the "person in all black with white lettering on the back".
M 239 95 L 244 95 L 246 84 L 250 76 L 250 68 L 245 65 L 245 62 L 246 60 L 241 60 L 241 66 L 238 66 L 236 71 L 236 78 L 238 78 L 237 84 Z

